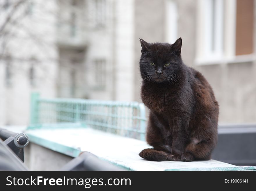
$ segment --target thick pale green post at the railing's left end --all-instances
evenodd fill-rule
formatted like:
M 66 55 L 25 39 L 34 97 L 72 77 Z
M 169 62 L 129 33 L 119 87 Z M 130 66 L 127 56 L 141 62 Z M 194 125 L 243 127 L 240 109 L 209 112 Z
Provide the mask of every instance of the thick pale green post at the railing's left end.
M 30 105 L 30 125 L 38 124 L 38 99 L 39 99 L 38 92 L 32 92 L 31 94 L 31 105 Z

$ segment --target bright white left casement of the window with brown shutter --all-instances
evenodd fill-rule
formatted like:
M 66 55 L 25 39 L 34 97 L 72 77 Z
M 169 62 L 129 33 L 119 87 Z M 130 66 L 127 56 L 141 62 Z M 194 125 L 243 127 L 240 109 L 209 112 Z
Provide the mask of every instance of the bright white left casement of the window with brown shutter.
M 215 5 L 213 4 L 215 1 Z M 224 1 L 199 0 L 197 60 L 221 60 L 223 58 Z M 213 13 L 215 10 L 215 14 Z M 215 28 L 213 28 L 215 26 Z

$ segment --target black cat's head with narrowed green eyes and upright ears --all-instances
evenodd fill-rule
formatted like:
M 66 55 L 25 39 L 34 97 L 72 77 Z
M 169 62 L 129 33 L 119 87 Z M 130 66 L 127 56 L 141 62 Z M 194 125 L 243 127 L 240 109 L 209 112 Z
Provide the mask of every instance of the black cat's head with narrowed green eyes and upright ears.
M 175 43 L 147 43 L 141 39 L 140 72 L 144 82 L 175 84 L 180 78 L 182 39 Z

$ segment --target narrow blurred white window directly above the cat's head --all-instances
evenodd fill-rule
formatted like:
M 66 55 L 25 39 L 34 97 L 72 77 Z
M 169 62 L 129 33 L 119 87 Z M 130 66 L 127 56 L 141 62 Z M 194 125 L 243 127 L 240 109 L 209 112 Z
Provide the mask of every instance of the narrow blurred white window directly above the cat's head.
M 177 4 L 173 0 L 166 0 L 166 42 L 174 43 L 177 40 Z

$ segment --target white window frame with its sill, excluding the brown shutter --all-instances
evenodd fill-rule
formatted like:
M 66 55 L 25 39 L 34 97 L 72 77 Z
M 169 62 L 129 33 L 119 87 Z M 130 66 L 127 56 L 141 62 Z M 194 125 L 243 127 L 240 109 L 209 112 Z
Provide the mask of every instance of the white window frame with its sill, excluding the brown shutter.
M 211 39 L 211 23 L 207 23 L 212 19 L 211 15 L 211 1 L 212 0 L 198 0 L 197 11 L 197 31 L 196 31 L 196 65 L 212 65 L 212 64 L 226 64 L 226 63 L 243 63 L 253 61 L 255 56 L 239 55 L 236 56 L 236 0 L 215 0 L 218 12 L 214 19 L 215 34 L 218 39 L 215 42 L 215 51 L 210 51 L 212 44 Z M 222 3 L 221 3 L 222 2 Z M 222 13 L 221 13 L 222 12 Z M 211 26 L 210 26 L 211 25 Z M 221 32 L 223 31 L 223 32 Z M 223 46 L 221 46 L 223 44 Z

